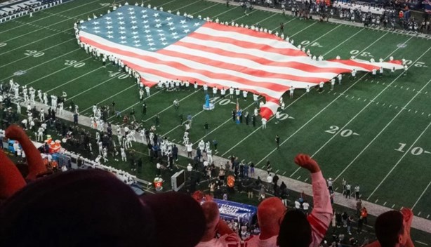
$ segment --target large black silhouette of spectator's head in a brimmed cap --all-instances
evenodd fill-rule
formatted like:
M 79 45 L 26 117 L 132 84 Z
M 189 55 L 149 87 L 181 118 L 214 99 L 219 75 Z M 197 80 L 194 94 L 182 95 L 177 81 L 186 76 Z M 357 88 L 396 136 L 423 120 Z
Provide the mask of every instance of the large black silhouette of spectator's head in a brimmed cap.
M 1 204 L 0 222 L 1 246 L 192 247 L 205 227 L 201 207 L 190 196 L 164 193 L 140 200 L 112 173 L 97 169 L 29 183 Z M 170 232 L 171 225 L 178 231 Z

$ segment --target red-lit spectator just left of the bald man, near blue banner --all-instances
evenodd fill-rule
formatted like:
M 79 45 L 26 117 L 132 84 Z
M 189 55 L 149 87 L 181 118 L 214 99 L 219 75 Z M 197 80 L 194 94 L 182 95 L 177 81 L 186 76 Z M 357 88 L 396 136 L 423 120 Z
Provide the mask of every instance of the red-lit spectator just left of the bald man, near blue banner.
M 220 219 L 218 205 L 214 201 L 205 201 L 202 204 L 206 227 L 204 236 L 196 247 L 236 247 L 240 246 L 241 239 L 230 229 L 226 222 Z M 214 236 L 219 235 L 219 238 Z

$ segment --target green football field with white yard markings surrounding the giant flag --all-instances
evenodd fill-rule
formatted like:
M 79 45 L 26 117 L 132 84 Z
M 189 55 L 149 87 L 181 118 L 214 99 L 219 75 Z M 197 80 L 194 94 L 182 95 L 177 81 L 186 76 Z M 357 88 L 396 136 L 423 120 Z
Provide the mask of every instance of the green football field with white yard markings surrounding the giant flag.
M 121 1 L 120 1 L 121 2 Z M 124 1 L 122 1 L 124 3 Z M 134 3 L 133 3 L 134 4 Z M 345 178 L 352 187 L 361 186 L 362 198 L 390 208 L 410 207 L 416 215 L 431 214 L 431 41 L 392 32 L 352 27 L 350 25 L 298 20 L 266 11 L 244 15 L 239 7 L 196 0 L 154 0 L 145 4 L 163 6 L 164 10 L 211 16 L 223 21 L 235 20 L 284 32 L 296 44 L 310 48 L 325 59 L 371 57 L 405 58 L 410 65 L 407 74 L 386 72 L 373 79 L 358 73 L 355 79 L 345 75 L 343 84 L 325 85 L 324 92 L 312 90 L 305 95 L 296 90 L 293 99 L 285 95 L 286 109 L 282 121 L 270 120 L 267 129 L 232 121 L 236 101 L 213 98 L 215 109 L 203 111 L 202 90 L 157 91 L 145 100 L 147 116 L 141 114 L 138 88 L 133 79 L 82 51 L 74 37 L 73 23 L 88 15 L 106 13 L 107 1 L 77 0 L 55 8 L 12 20 L 0 25 L 0 81 L 13 78 L 19 84 L 40 88 L 49 94 L 66 91 L 68 102 L 79 105 L 81 114 L 90 116 L 93 104 L 117 102 L 125 114 L 135 107 L 145 127 L 160 115 L 157 133 L 181 142 L 184 128 L 179 115 L 194 116 L 191 140 L 218 140 L 217 155 L 231 154 L 258 167 L 269 159 L 273 171 L 297 180 L 308 175 L 297 169 L 293 157 L 299 152 L 310 154 L 321 164 L 326 178 L 336 180 L 341 191 Z M 15 73 L 15 75 L 14 75 Z M 180 109 L 172 107 L 175 98 Z M 67 104 L 66 104 L 67 105 Z M 239 100 L 244 111 L 253 112 L 251 95 Z M 119 121 L 111 117 L 113 123 Z M 204 123 L 210 132 L 206 135 Z M 276 148 L 274 138 L 280 136 Z M 175 142 L 174 141 L 174 142 Z M 196 147 L 196 146 L 195 146 Z M 145 151 L 145 150 L 144 150 Z

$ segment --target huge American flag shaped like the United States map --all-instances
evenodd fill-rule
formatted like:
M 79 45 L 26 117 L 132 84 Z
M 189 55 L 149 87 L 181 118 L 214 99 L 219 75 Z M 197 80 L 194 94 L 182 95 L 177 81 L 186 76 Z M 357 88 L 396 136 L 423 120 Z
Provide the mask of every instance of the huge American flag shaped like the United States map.
M 388 62 L 316 61 L 274 34 L 140 6 L 121 6 L 79 29 L 81 42 L 117 56 L 140 73 L 143 84 L 180 79 L 239 88 L 265 96 L 260 114 L 266 119 L 292 86 L 316 86 L 352 69 L 400 68 Z

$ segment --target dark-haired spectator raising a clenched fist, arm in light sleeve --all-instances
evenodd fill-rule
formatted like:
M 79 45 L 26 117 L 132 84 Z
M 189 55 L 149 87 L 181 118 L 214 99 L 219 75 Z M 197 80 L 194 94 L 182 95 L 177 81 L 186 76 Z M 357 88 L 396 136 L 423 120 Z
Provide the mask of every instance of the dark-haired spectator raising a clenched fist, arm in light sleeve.
M 311 173 L 314 208 L 308 217 L 300 211 L 286 213 L 281 222 L 277 244 L 280 247 L 319 246 L 333 216 L 329 190 L 319 165 L 310 156 L 298 154 L 295 163 Z

